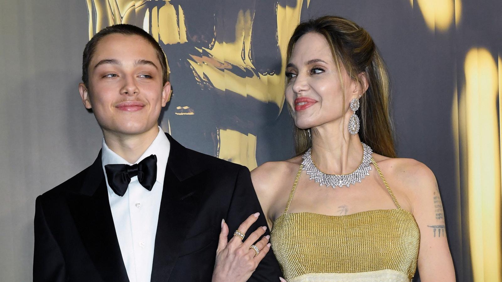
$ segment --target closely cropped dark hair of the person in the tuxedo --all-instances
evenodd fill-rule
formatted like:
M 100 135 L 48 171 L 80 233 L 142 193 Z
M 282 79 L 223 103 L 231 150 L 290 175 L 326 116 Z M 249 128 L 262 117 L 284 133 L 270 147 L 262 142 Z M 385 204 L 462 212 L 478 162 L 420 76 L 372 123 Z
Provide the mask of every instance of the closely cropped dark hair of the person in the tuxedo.
M 164 51 L 160 47 L 159 43 L 151 36 L 149 33 L 143 29 L 128 25 L 128 24 L 118 24 L 106 27 L 96 33 L 89 42 L 85 45 L 84 54 L 82 56 L 82 82 L 88 87 L 89 86 L 89 63 L 96 51 L 96 46 L 99 41 L 110 34 L 123 34 L 123 35 L 138 35 L 146 39 L 157 52 L 157 58 L 162 66 L 162 85 L 169 81 L 169 74 L 167 73 L 167 59 Z

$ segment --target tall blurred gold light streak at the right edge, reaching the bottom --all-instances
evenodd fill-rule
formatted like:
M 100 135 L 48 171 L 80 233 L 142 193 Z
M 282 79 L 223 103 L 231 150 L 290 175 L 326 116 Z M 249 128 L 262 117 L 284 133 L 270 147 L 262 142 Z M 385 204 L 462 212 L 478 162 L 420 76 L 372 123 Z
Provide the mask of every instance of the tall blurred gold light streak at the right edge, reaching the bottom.
M 496 100 L 500 74 L 484 48 L 464 62 L 465 89 L 459 101 L 463 179 L 467 180 L 469 242 L 475 281 L 500 281 L 500 136 Z M 498 74 L 497 74 L 498 73 Z M 465 102 L 464 102 L 465 101 Z

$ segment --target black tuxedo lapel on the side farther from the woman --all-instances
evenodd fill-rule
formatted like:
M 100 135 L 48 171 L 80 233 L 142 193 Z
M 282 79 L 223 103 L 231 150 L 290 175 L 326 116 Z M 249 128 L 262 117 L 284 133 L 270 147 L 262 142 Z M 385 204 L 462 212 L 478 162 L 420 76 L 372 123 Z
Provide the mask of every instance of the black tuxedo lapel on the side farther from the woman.
M 101 152 L 88 168 L 82 186 L 69 196 L 69 208 L 82 242 L 104 281 L 129 281 L 123 263 L 108 191 L 101 166 Z

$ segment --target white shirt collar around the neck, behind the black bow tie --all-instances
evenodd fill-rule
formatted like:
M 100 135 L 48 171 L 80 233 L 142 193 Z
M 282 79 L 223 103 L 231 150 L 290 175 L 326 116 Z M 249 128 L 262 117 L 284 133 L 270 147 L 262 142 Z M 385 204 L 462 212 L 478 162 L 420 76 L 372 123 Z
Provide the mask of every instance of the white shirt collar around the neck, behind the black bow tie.
M 159 184 L 164 185 L 164 177 L 166 174 L 166 166 L 167 160 L 169 158 L 169 151 L 171 149 L 171 143 L 169 143 L 169 139 L 167 138 L 164 130 L 159 126 L 159 134 L 153 140 L 152 144 L 148 147 L 148 149 L 141 155 L 141 157 L 136 161 L 136 164 L 143 161 L 146 157 L 150 155 L 157 156 L 157 181 Z M 106 177 L 106 171 L 104 170 L 104 166 L 109 164 L 125 164 L 125 165 L 134 165 L 124 160 L 122 157 L 118 156 L 115 152 L 111 151 L 110 148 L 106 145 L 106 142 L 103 137 L 103 141 L 101 143 L 101 163 L 103 167 L 104 178 L 106 182 L 106 187 L 108 188 L 108 193 L 113 194 L 113 190 L 111 190 L 108 185 L 108 179 Z M 138 177 L 133 177 L 131 182 L 137 181 Z

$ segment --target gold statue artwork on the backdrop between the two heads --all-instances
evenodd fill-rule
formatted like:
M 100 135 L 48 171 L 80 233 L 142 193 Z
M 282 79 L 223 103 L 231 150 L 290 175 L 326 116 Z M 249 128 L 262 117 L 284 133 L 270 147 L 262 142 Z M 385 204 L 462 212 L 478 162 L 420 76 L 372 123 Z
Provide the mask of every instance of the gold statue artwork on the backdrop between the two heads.
M 87 0 L 89 38 L 120 23 L 152 34 L 174 89 L 164 130 L 189 148 L 254 169 L 260 132 L 282 111 L 286 47 L 302 4 Z

